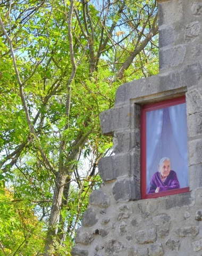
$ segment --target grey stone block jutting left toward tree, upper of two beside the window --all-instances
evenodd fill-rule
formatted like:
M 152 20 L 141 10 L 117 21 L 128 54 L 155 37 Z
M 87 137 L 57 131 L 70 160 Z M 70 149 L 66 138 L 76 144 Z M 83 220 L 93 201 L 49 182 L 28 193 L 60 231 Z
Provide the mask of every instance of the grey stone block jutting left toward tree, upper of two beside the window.
M 137 127 L 140 121 L 136 112 L 139 108 L 139 106 L 128 103 L 103 111 L 99 116 L 103 134 L 111 136 L 114 131 Z

